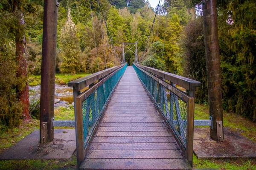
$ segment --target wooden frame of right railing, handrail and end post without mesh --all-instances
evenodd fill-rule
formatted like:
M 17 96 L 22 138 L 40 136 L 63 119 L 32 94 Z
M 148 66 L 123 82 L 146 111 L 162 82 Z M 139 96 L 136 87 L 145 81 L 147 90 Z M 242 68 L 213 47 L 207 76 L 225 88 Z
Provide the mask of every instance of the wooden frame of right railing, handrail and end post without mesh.
M 182 145 L 182 141 L 184 141 L 184 139 L 182 139 L 181 136 L 179 136 L 177 130 L 175 130 L 175 128 L 173 127 L 172 123 L 170 123 L 168 119 L 166 119 L 166 116 L 164 116 L 164 108 L 162 107 L 161 109 L 159 109 L 159 103 L 157 103 L 156 99 L 154 97 L 152 97 L 150 94 L 150 92 L 148 91 L 149 96 L 151 96 L 152 101 L 154 101 L 157 109 L 162 113 L 164 119 L 166 120 L 167 125 L 170 125 L 170 129 L 173 130 L 174 134 L 176 134 L 177 138 L 176 141 L 177 143 L 180 145 L 180 149 L 183 151 L 184 155 L 186 156 L 186 159 L 188 160 L 189 164 L 192 166 L 192 162 L 193 162 L 193 139 L 194 139 L 194 110 L 195 110 L 195 87 L 201 85 L 201 82 L 192 80 L 192 79 L 188 79 L 186 77 L 181 77 L 181 76 L 177 76 L 175 74 L 171 74 L 165 71 L 160 71 L 154 68 L 150 68 L 150 67 L 146 67 L 143 65 L 139 65 L 137 63 L 134 63 L 135 67 L 138 68 L 138 70 L 142 71 L 144 74 L 148 75 L 148 77 L 151 77 L 153 81 L 159 83 L 159 87 L 160 85 L 162 85 L 162 87 L 165 87 L 166 89 L 168 89 L 170 92 L 172 92 L 173 94 L 177 95 L 178 97 L 180 97 L 181 100 L 183 100 L 183 102 L 186 103 L 187 105 L 187 112 L 186 112 L 186 149 L 183 148 Z M 169 82 L 166 82 L 165 80 L 168 80 Z M 143 80 L 141 80 L 143 81 Z M 153 85 L 153 81 L 150 84 L 150 88 L 151 89 L 151 85 Z M 180 91 L 178 88 L 176 88 L 175 86 L 173 86 L 173 83 L 176 85 L 179 85 L 182 88 L 185 88 L 188 93 L 184 92 L 184 91 Z M 144 85 L 145 88 L 148 88 L 147 86 Z M 147 90 L 146 90 L 147 91 Z M 158 95 L 158 94 L 157 94 Z M 166 93 L 161 94 L 165 95 L 164 99 L 167 99 Z M 165 107 L 166 109 L 166 107 Z M 167 113 L 167 111 L 166 111 Z M 175 133 L 176 132 L 176 133 Z

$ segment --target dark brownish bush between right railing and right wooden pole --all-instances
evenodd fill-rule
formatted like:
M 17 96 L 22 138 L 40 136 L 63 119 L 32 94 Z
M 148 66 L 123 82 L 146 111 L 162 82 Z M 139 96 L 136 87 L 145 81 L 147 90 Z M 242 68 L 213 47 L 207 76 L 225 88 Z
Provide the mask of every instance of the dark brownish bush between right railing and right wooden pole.
M 198 17 L 190 20 L 184 27 L 181 35 L 180 46 L 185 55 L 181 55 L 183 65 L 183 76 L 201 82 L 196 88 L 196 102 L 208 102 L 206 60 L 204 51 L 204 28 L 203 18 Z

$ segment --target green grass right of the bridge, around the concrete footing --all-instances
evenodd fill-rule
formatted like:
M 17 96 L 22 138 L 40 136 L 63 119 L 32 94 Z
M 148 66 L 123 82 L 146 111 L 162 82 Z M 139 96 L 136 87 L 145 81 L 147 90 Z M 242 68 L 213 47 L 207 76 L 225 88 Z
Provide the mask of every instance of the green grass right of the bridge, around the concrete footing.
M 209 107 L 195 104 L 195 119 L 209 119 Z M 239 131 L 241 135 L 255 142 L 256 123 L 232 113 L 223 112 L 223 124 L 231 130 Z M 198 159 L 193 155 L 193 168 L 216 168 L 221 170 L 256 170 L 256 161 Z

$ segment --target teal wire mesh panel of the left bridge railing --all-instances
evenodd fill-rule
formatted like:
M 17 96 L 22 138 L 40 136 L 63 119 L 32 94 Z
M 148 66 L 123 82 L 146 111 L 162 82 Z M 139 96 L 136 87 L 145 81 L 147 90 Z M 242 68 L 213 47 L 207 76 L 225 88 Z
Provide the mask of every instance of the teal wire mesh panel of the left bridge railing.
M 120 77 L 125 72 L 126 67 L 127 64 L 108 78 L 102 85 L 93 91 L 92 94 L 86 96 L 82 102 L 84 147 L 87 146 L 88 140 L 92 134 L 90 132 L 94 130 L 96 122 L 104 111 L 106 103 Z

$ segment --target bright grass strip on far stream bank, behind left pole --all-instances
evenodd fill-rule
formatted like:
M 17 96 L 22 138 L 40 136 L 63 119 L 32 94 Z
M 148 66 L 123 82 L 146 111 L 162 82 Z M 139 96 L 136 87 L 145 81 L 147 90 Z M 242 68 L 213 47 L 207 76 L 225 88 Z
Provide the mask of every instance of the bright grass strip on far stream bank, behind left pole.
M 55 83 L 58 85 L 67 85 L 68 82 L 79 79 L 81 77 L 88 76 L 87 73 L 73 74 L 55 74 Z M 29 86 L 40 85 L 41 75 L 30 75 L 29 76 Z

